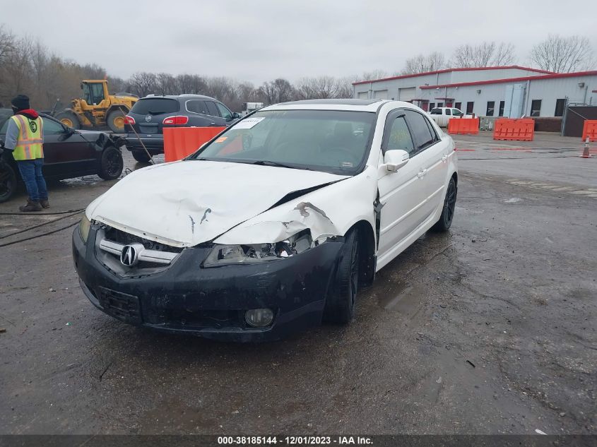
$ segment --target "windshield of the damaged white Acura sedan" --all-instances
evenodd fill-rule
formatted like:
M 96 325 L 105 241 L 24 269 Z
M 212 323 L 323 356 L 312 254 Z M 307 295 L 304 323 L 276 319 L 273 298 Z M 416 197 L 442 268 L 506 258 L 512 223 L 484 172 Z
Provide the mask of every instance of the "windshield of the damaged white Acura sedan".
M 356 174 L 367 156 L 374 121 L 372 112 L 256 112 L 231 126 L 191 159 Z

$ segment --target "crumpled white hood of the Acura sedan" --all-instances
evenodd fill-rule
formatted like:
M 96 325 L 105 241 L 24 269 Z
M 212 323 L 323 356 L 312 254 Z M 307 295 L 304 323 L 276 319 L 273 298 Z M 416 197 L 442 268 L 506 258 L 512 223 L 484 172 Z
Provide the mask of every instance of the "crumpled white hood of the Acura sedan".
M 189 160 L 139 169 L 90 203 L 89 219 L 173 246 L 208 242 L 286 194 L 345 179 L 326 172 Z

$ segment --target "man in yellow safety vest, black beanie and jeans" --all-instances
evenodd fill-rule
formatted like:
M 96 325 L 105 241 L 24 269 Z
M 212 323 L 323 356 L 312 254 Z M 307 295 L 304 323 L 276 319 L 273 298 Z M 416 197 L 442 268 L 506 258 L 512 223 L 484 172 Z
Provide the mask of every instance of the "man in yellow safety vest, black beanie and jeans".
M 14 115 L 8 120 L 4 148 L 12 150 L 20 177 L 29 193 L 26 205 L 19 210 L 29 213 L 49 208 L 44 165 L 44 129 L 40 115 L 29 106 L 29 97 L 17 95 L 11 101 Z

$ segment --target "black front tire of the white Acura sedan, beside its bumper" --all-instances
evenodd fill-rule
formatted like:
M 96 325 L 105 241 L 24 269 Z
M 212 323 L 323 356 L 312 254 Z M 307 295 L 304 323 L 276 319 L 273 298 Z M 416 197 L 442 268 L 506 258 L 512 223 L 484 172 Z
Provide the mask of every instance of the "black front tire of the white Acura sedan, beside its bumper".
M 324 321 L 346 324 L 355 314 L 359 282 L 359 234 L 350 230 L 340 251 L 336 279 L 331 285 L 324 308 Z

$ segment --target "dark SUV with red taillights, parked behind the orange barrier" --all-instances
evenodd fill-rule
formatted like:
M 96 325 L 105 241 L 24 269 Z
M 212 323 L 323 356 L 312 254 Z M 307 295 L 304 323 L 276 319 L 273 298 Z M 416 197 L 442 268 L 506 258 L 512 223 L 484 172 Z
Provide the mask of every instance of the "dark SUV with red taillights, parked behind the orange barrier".
M 213 97 L 149 95 L 138 100 L 124 118 L 126 148 L 138 162 L 148 162 L 143 145 L 150 155 L 163 153 L 165 127 L 224 127 L 237 119 L 240 114 Z

